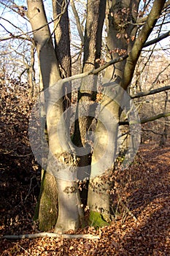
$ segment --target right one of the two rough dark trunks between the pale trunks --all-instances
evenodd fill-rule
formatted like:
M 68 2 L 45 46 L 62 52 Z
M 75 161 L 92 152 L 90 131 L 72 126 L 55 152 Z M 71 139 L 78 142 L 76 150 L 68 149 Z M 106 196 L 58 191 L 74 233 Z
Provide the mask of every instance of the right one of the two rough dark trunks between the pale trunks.
M 99 67 L 97 60 L 101 57 L 101 34 L 104 24 L 106 0 L 88 0 L 87 20 L 85 25 L 84 37 L 84 58 L 82 72 L 88 72 L 93 68 Z M 97 76 L 88 76 L 83 78 L 78 95 L 78 105 L 75 121 L 74 144 L 78 147 L 84 147 L 87 154 L 80 157 L 80 166 L 84 167 L 84 178 L 90 175 L 91 152 L 87 133 L 93 120 L 90 111 L 95 108 L 93 105 L 96 99 Z M 92 112 L 93 112 L 92 110 Z M 87 175 L 88 173 L 88 175 Z M 80 174 L 83 178 L 83 174 Z

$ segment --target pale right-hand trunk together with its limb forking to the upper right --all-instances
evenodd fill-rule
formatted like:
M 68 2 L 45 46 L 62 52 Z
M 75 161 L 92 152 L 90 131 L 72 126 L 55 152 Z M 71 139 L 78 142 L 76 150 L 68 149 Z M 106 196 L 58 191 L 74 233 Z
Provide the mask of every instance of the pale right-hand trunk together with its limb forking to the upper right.
M 137 11 L 139 7 L 139 1 L 128 0 L 128 1 L 108 1 L 107 2 L 107 61 L 115 59 L 119 55 L 127 54 L 129 52 L 128 59 L 114 64 L 114 66 L 109 66 L 106 69 L 104 78 L 107 78 L 112 82 L 113 86 L 110 90 L 115 90 L 116 85 L 120 85 L 123 89 L 127 89 L 131 83 L 131 79 L 134 74 L 134 69 L 136 66 L 136 61 L 139 58 L 144 42 L 146 42 L 149 37 L 156 20 L 158 19 L 160 12 L 163 8 L 165 1 L 154 1 L 150 15 L 147 17 L 147 22 L 144 24 L 142 30 L 139 32 L 138 38 L 134 41 L 136 36 L 136 26 L 133 23 L 136 22 Z M 119 89 L 118 89 L 119 91 Z M 119 92 L 117 91 L 117 94 Z M 98 122 L 96 128 L 96 134 L 98 134 L 97 146 L 93 152 L 92 157 L 92 167 L 91 167 L 91 178 L 88 191 L 88 206 L 90 211 L 98 211 L 100 213 L 109 214 L 109 194 L 105 193 L 104 200 L 100 200 L 102 191 L 111 190 L 112 184 L 104 183 L 104 164 L 99 161 L 101 152 L 104 152 L 108 146 L 107 141 L 109 140 L 110 151 L 108 156 L 106 156 L 106 161 L 108 162 L 108 168 L 112 168 L 114 164 L 114 156 L 117 151 L 117 132 L 118 132 L 118 122 L 120 119 L 120 102 L 123 94 L 120 93 L 120 99 L 115 102 L 115 99 L 109 104 L 109 108 L 112 116 L 115 117 L 115 124 L 112 128 L 108 126 L 107 132 L 101 121 Z M 101 100 L 101 105 L 105 101 L 105 96 Z M 102 112 L 102 111 L 101 111 Z M 99 114 L 102 116 L 102 113 Z M 105 120 L 104 120 L 105 121 Z M 107 124 L 107 121 L 106 121 Z M 109 134 L 109 129 L 112 129 L 112 135 Z M 109 139 L 108 139 L 109 138 Z M 102 159 L 102 158 L 101 158 Z M 99 162 L 99 164 L 98 164 Z M 96 164 L 97 163 L 97 164 Z M 112 165 L 111 165 L 112 164 Z M 101 175 L 98 172 L 101 171 Z M 93 174 L 94 173 L 94 174 Z M 93 178 L 97 176 L 96 178 Z M 100 187 L 98 191 L 97 187 Z M 93 189 L 90 189 L 92 187 Z M 96 191 L 96 192 L 95 192 Z M 101 194 L 100 194 L 101 191 Z M 104 203 L 105 202 L 105 203 Z M 102 209 L 102 211 L 101 211 Z

